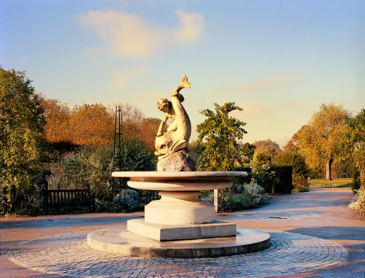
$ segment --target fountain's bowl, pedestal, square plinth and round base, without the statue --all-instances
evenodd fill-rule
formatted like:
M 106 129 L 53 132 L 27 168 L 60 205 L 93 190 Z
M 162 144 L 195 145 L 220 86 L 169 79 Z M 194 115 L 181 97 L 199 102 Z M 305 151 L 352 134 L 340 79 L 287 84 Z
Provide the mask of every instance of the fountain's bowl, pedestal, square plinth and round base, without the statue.
M 145 206 L 145 219 L 127 221 L 125 227 L 93 231 L 92 249 L 126 256 L 199 258 L 263 250 L 268 233 L 215 220 L 214 206 L 199 199 L 199 190 L 227 188 L 231 177 L 246 172 L 114 172 L 129 177 L 128 186 L 159 190 L 160 200 Z

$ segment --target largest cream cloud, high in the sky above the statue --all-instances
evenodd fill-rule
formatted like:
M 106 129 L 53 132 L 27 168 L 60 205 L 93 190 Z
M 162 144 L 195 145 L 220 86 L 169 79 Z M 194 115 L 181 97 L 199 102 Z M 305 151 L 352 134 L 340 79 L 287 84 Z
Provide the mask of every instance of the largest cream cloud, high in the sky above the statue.
M 180 19 L 177 28 L 145 22 L 138 15 L 115 10 L 89 10 L 76 15 L 76 19 L 96 31 L 102 43 L 101 52 L 108 51 L 120 57 L 148 57 L 158 48 L 199 40 L 204 30 L 203 16 L 180 10 L 177 15 Z

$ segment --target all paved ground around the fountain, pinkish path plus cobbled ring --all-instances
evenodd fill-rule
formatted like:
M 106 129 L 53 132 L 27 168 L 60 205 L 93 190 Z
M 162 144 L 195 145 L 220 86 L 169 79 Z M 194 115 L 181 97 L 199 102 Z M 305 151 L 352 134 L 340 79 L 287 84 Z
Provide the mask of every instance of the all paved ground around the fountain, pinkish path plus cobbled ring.
M 131 278 L 153 275 L 269 277 L 282 274 L 281 277 L 364 278 L 365 223 L 353 219 L 354 212 L 346 207 L 351 197 L 347 190 L 315 189 L 309 193 L 274 196 L 272 203 L 263 208 L 220 215 L 220 219 L 238 225 L 291 233 L 270 231 L 273 244 L 261 252 L 210 259 L 131 258 L 93 251 L 86 246 L 86 230 L 125 225 L 128 219 L 143 216 L 141 213 L 1 219 L 1 254 L 19 244 L 9 252 L 14 254 L 10 255 L 12 260 L 26 267 L 37 267 L 45 273 L 24 269 L 1 256 L 0 276 L 48 278 L 59 277 L 55 273 L 61 271 L 68 277 L 95 276 L 105 270 L 104 275 Z M 48 236 L 52 234 L 56 235 Z M 39 236 L 46 237 L 30 240 Z M 347 260 L 346 249 L 340 244 L 349 250 Z M 20 250 L 23 251 L 18 252 Z

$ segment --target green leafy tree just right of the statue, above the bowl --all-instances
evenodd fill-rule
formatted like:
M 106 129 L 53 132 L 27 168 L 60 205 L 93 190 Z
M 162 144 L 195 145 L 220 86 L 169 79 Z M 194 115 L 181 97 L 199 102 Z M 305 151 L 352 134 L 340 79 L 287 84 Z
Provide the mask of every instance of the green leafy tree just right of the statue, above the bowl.
M 196 149 L 198 152 L 200 148 L 203 149 L 197 161 L 197 168 L 205 171 L 230 171 L 234 169 L 235 163 L 241 162 L 242 147 L 238 140 L 241 140 L 247 131 L 243 129 L 245 122 L 228 114 L 243 109 L 234 102 L 225 103 L 223 106 L 216 103 L 214 105 L 215 112 L 210 109 L 199 111 L 207 119 L 196 126 Z

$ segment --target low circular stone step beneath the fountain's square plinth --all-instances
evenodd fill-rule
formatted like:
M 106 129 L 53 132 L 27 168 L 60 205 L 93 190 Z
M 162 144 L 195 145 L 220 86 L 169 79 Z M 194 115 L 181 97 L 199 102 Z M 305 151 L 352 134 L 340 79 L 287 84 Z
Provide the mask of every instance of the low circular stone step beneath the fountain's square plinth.
M 237 227 L 237 236 L 158 242 L 127 232 L 125 227 L 115 227 L 89 233 L 87 243 L 94 250 L 125 256 L 202 258 L 264 250 L 270 246 L 270 235 Z

